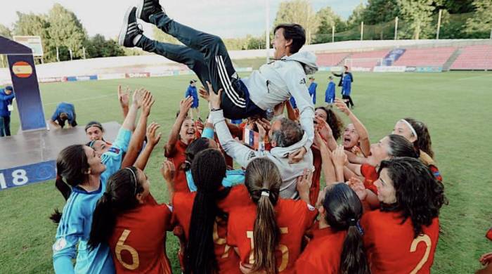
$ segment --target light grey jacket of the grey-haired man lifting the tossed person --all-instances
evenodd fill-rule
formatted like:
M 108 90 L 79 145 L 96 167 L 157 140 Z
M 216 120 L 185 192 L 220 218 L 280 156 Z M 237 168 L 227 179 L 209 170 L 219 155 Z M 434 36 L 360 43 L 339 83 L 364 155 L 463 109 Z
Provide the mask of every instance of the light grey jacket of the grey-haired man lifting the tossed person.
M 301 141 L 294 143 L 287 148 L 272 148 L 270 151 L 259 152 L 248 148 L 246 145 L 239 143 L 233 139 L 224 119 L 224 112 L 217 110 L 210 112 L 210 117 L 214 123 L 219 143 L 221 144 L 227 155 L 231 156 L 235 162 L 246 168 L 247 164 L 256 157 L 267 157 L 276 164 L 282 177 L 282 185 L 280 185 L 280 197 L 285 199 L 298 199 L 297 193 L 297 177 L 301 176 L 304 169 L 313 170 L 313 153 L 311 149 L 307 150 L 304 159 L 296 164 L 289 164 L 289 153 L 299 148 L 302 148 L 308 142 L 307 134 L 304 133 Z M 311 119 L 312 121 L 312 119 Z

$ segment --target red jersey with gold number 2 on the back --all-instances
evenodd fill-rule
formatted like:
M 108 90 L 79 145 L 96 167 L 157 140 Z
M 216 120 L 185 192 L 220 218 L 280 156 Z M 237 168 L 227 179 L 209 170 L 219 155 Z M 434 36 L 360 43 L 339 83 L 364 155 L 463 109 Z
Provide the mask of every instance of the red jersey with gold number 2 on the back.
M 413 237 L 412 221 L 401 223 L 400 212 L 370 211 L 363 214 L 365 253 L 374 273 L 430 273 L 439 240 L 439 218 Z

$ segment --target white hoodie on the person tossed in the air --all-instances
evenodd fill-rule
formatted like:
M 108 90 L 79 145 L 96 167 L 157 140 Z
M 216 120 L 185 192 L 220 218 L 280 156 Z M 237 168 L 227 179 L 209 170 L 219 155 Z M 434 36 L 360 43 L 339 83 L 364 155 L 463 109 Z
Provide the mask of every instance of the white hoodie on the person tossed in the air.
M 250 92 L 250 99 L 262 110 L 273 110 L 279 103 L 294 97 L 302 128 L 308 136 L 304 146 L 308 151 L 314 140 L 314 105 L 306 86 L 306 74 L 316 71 L 316 56 L 302 51 L 262 65 L 250 77 L 241 79 Z

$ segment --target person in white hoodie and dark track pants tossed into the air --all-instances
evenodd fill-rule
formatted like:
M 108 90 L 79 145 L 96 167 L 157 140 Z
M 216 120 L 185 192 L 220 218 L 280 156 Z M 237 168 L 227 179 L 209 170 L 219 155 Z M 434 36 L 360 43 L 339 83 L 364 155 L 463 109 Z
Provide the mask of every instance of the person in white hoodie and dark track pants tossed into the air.
M 153 41 L 143 35 L 137 18 L 156 25 L 160 30 L 175 37 L 184 46 Z M 279 103 L 294 97 L 300 112 L 301 124 L 307 134 L 307 142 L 294 152 L 294 158 L 302 159 L 310 150 L 314 139 L 314 106 L 306 87 L 306 74 L 318 70 L 316 56 L 299 52 L 306 42 L 304 28 L 297 24 L 283 24 L 275 28 L 273 63 L 262 65 L 250 77 L 240 79 L 220 37 L 194 30 L 169 18 L 158 0 L 138 0 L 124 16 L 119 33 L 119 44 L 138 46 L 144 51 L 187 65 L 202 84 L 207 81 L 214 91 L 224 89 L 221 109 L 228 119 L 242 119 L 264 115 Z

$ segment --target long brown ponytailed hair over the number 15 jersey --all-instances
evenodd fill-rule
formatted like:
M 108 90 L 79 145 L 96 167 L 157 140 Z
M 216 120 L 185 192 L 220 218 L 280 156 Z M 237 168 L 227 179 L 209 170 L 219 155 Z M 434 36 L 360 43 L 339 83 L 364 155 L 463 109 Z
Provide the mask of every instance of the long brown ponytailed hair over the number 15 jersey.
M 275 205 L 280 194 L 280 171 L 268 158 L 253 159 L 246 168 L 245 185 L 257 204 L 253 229 L 253 272 L 277 273 L 275 249 L 280 241 Z

